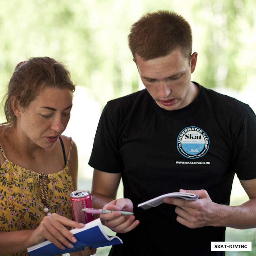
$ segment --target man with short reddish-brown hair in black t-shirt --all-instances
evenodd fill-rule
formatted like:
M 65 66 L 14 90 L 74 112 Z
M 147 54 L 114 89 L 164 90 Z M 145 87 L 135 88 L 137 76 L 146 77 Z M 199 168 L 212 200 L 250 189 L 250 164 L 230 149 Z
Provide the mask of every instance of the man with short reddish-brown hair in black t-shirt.
M 191 82 L 188 22 L 174 12 L 148 13 L 132 25 L 129 47 L 146 89 L 111 100 L 97 128 L 89 164 L 94 208 L 123 244 L 110 255 L 225 255 L 211 251 L 225 227 L 256 227 L 256 117 L 233 98 Z M 234 174 L 250 200 L 229 206 Z M 122 177 L 124 198 L 116 200 Z M 186 191 L 196 201 L 166 198 Z

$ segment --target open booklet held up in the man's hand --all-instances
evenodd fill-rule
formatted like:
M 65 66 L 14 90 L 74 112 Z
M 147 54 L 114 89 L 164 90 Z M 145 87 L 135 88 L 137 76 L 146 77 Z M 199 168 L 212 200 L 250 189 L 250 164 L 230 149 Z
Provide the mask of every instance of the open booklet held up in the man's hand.
M 198 199 L 198 195 L 192 194 L 192 193 L 186 193 L 186 192 L 172 192 L 168 194 L 164 194 L 162 196 L 157 196 L 153 199 L 150 199 L 144 203 L 138 204 L 138 207 L 148 210 L 151 207 L 156 207 L 159 204 L 163 203 L 163 199 L 167 197 L 178 197 L 186 200 L 196 200 Z

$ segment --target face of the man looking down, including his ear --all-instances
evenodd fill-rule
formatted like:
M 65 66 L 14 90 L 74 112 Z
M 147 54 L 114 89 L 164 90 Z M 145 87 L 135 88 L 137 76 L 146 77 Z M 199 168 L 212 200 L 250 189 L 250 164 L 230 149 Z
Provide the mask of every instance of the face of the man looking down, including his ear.
M 161 108 L 166 110 L 184 108 L 196 98 L 198 88 L 191 82 L 196 58 L 197 53 L 194 52 L 189 62 L 180 49 L 165 57 L 147 61 L 136 56 L 141 81 Z

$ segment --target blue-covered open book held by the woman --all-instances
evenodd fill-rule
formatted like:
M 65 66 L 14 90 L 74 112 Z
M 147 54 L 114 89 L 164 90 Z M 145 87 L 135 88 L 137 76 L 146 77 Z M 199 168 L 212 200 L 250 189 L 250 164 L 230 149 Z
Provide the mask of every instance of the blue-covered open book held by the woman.
M 50 241 L 45 241 L 41 244 L 34 245 L 28 248 L 30 256 L 50 256 L 68 252 L 76 252 L 83 250 L 84 247 L 98 248 L 114 244 L 123 244 L 123 241 L 118 236 L 108 236 L 103 229 L 100 219 L 93 220 L 85 224 L 84 228 L 75 228 L 70 232 L 76 237 L 77 242 L 72 243 L 73 249 L 66 247 L 61 250 Z

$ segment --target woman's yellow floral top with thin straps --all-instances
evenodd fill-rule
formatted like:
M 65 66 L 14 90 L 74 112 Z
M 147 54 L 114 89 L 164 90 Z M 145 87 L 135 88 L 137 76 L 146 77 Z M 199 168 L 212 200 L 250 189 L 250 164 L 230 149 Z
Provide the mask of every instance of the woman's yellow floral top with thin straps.
M 68 159 L 63 170 L 48 174 L 47 184 L 50 212 L 72 219 L 70 193 L 74 191 L 68 162 L 72 150 L 71 139 Z M 43 211 L 39 173 L 13 164 L 0 149 L 5 161 L 0 168 L 0 232 L 35 229 L 46 215 Z M 1 154 L 1 153 L 0 153 Z M 13 254 L 27 256 L 28 252 Z

